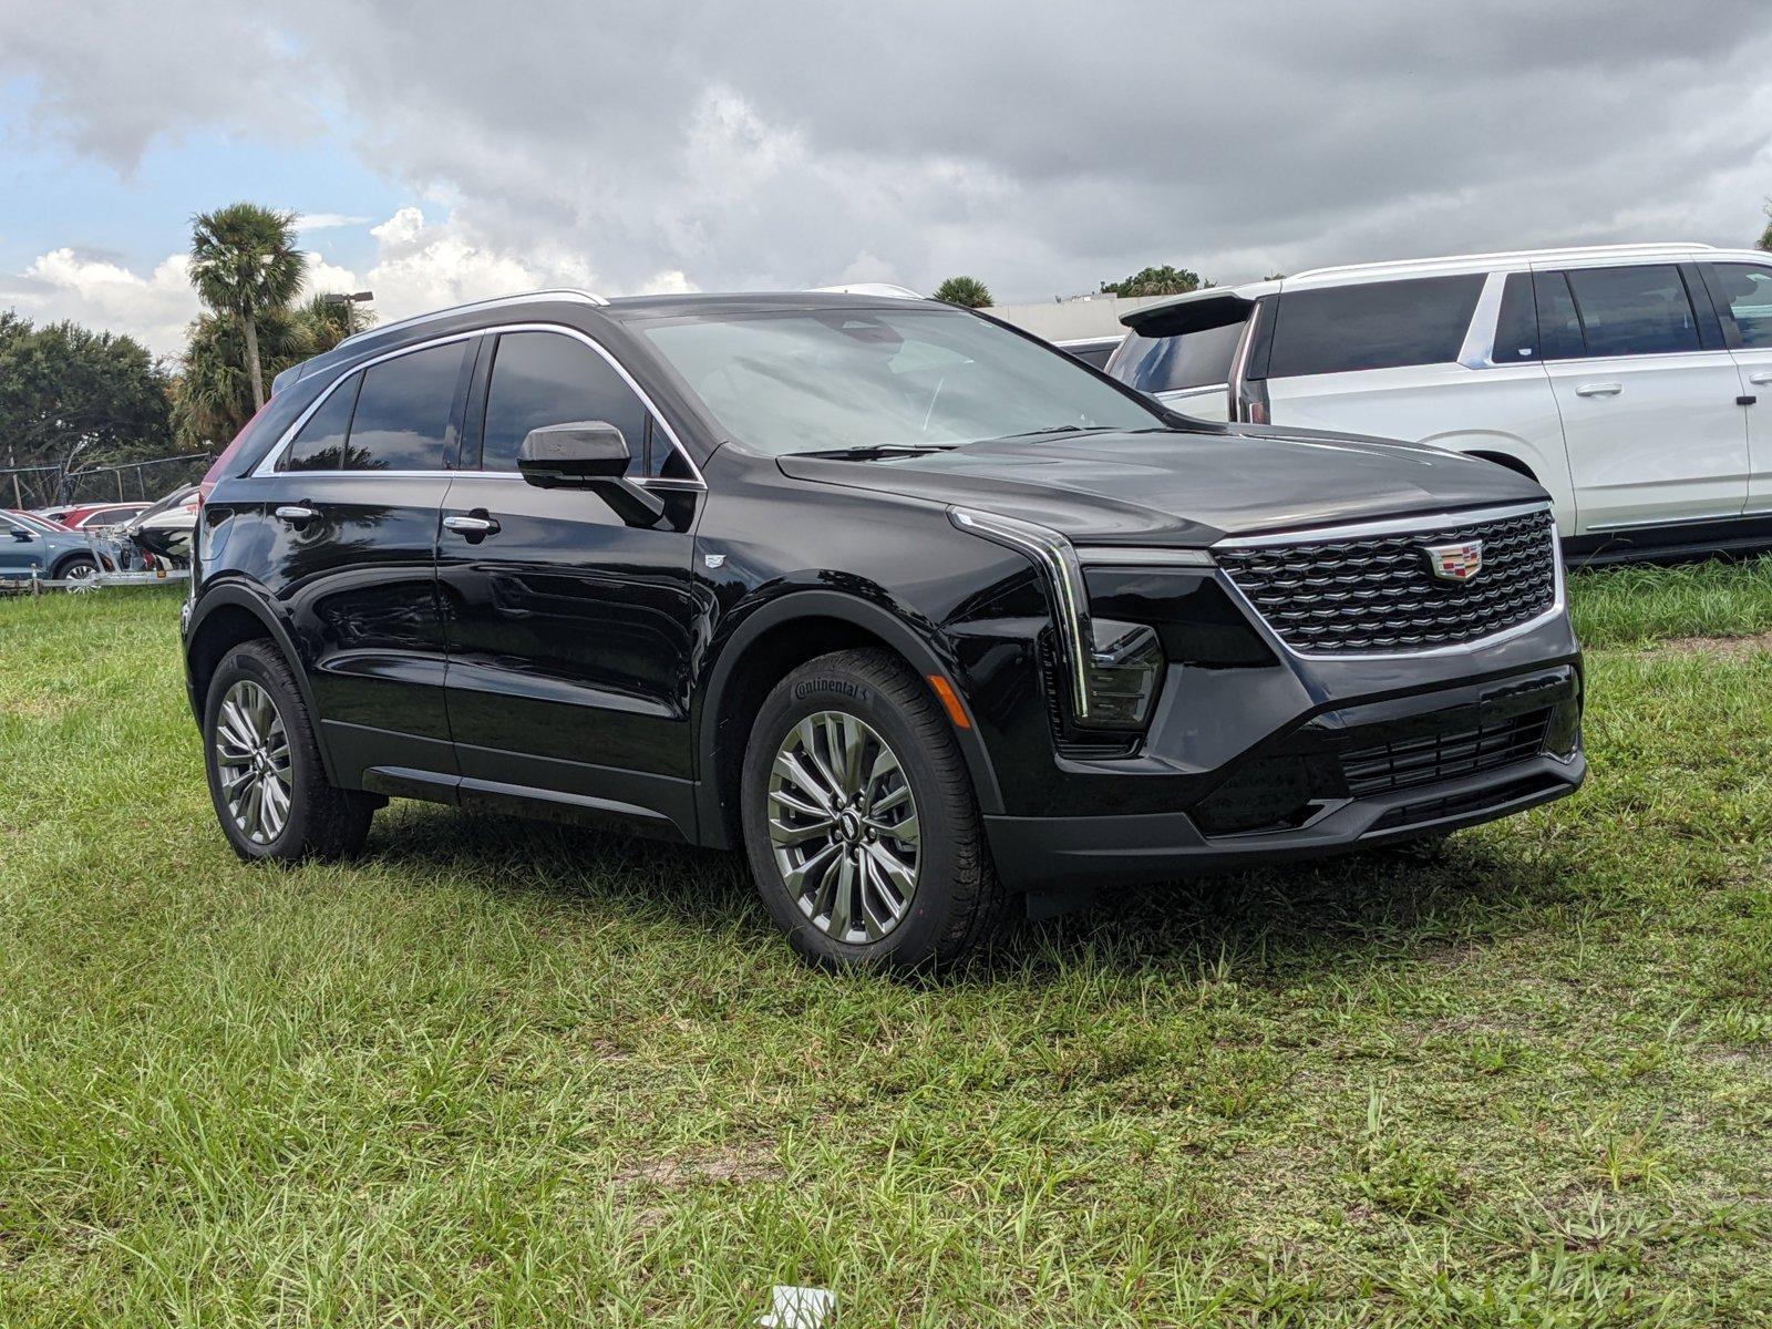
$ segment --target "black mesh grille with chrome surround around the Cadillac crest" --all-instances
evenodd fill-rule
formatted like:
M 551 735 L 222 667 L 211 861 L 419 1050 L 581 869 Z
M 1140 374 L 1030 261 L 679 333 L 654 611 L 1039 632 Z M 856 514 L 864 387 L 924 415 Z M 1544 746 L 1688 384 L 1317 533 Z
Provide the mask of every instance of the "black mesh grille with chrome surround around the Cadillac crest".
M 1483 542 L 1467 581 L 1428 571 L 1428 546 Z M 1432 650 L 1478 641 L 1556 604 L 1550 512 L 1396 533 L 1219 546 L 1219 565 L 1269 627 L 1311 656 Z

